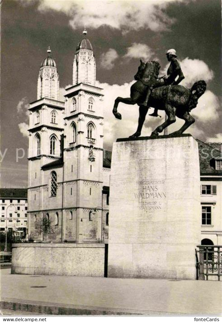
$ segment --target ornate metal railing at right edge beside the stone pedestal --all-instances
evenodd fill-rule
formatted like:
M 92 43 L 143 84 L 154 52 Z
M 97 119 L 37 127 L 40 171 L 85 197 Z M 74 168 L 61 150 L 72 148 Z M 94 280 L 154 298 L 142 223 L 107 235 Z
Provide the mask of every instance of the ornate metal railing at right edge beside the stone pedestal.
M 222 245 L 198 245 L 196 251 L 197 279 L 222 276 Z M 199 254 L 199 256 L 198 256 Z

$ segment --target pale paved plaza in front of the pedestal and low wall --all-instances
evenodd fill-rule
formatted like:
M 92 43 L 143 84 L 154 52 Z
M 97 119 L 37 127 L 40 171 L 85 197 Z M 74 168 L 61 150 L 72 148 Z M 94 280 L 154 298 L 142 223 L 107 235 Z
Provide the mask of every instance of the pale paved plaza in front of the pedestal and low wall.
M 221 282 L 11 275 L 1 270 L 3 309 L 47 314 L 221 316 Z

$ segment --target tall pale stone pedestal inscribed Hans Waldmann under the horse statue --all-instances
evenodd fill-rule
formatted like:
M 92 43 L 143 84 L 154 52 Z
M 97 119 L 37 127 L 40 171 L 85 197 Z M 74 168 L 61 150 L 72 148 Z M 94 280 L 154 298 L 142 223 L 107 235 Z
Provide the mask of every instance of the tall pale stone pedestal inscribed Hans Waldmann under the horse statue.
M 200 213 L 198 145 L 191 135 L 118 139 L 108 277 L 196 279 Z

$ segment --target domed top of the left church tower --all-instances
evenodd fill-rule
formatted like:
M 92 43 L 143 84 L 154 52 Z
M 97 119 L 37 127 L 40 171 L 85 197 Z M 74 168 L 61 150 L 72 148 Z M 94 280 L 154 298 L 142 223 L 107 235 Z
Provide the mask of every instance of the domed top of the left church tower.
M 38 77 L 37 99 L 59 99 L 59 77 L 56 62 L 51 57 L 50 46 L 47 57 L 43 60 Z

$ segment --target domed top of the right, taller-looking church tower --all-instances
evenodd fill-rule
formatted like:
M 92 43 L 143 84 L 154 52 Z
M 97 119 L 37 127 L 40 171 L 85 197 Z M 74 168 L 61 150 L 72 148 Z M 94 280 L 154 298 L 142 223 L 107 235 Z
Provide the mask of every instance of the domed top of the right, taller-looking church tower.
M 93 47 L 86 38 L 87 31 L 84 28 L 84 38 L 78 43 L 73 61 L 73 85 L 84 83 L 95 85 L 96 64 Z

